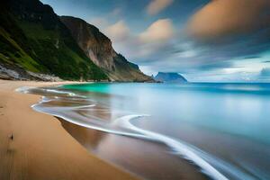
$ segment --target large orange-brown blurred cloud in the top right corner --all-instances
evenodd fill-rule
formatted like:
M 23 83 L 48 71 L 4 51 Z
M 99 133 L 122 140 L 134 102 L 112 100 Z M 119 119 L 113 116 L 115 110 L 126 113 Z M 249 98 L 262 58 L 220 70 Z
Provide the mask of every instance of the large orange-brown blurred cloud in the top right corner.
M 228 38 L 269 25 L 269 0 L 213 0 L 190 19 L 188 33 L 201 40 Z

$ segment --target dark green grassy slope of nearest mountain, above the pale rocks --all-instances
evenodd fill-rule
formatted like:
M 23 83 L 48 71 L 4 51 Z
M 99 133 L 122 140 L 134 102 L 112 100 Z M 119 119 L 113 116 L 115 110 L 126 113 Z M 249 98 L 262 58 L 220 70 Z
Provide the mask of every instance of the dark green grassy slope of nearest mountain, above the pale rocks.
M 43 8 L 42 4 L 38 5 Z M 0 61 L 3 63 L 14 64 L 32 72 L 54 74 L 63 79 L 107 78 L 79 49 L 67 28 L 52 11 L 38 12 L 43 18 L 41 20 L 36 17 L 22 19 L 21 12 L 1 12 Z

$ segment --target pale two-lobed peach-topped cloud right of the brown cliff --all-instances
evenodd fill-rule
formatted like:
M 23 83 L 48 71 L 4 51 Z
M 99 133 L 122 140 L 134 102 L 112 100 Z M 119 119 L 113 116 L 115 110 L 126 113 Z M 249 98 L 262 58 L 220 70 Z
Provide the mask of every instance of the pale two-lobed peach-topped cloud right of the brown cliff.
M 150 60 L 156 56 L 164 56 L 170 49 L 170 40 L 173 39 L 175 31 L 171 20 L 159 19 L 150 24 L 145 31 L 134 34 L 121 20 L 105 28 L 104 33 L 112 40 L 116 51 L 138 62 L 146 58 Z

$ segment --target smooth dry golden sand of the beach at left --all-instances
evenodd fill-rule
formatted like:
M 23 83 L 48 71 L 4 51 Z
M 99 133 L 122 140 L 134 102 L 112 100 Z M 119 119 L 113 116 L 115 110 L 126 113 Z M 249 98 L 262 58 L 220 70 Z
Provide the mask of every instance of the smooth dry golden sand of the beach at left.
M 136 179 L 87 152 L 56 118 L 33 111 L 39 95 L 14 92 L 57 84 L 0 80 L 0 179 Z

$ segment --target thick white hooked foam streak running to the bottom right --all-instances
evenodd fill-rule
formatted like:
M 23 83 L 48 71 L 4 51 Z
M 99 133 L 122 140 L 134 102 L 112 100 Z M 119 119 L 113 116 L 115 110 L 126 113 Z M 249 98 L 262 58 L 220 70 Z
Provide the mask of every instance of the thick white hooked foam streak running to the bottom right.
M 134 119 L 138 119 L 141 117 L 145 117 L 148 115 L 127 115 L 121 117 L 117 123 L 121 126 L 127 127 L 131 130 L 136 130 L 141 134 L 148 136 L 150 139 L 156 139 L 157 141 L 165 143 L 168 147 L 172 148 L 175 151 L 175 154 L 178 154 L 185 159 L 192 161 L 195 165 L 202 168 L 202 173 L 209 175 L 211 178 L 216 180 L 228 180 L 225 175 L 222 175 L 215 167 L 211 166 L 219 166 L 224 172 L 228 173 L 229 175 L 233 176 L 234 179 L 245 179 L 245 180 L 254 180 L 253 177 L 246 175 L 245 173 L 241 172 L 235 166 L 229 165 L 218 159 L 217 157 L 212 157 L 206 152 L 203 152 L 199 148 L 195 148 L 192 145 L 187 144 L 179 139 L 172 139 L 165 135 L 149 131 L 149 130 L 142 130 L 136 126 L 134 126 L 130 121 Z M 206 160 L 205 160 L 206 159 Z M 211 162 L 211 164 L 209 163 Z

